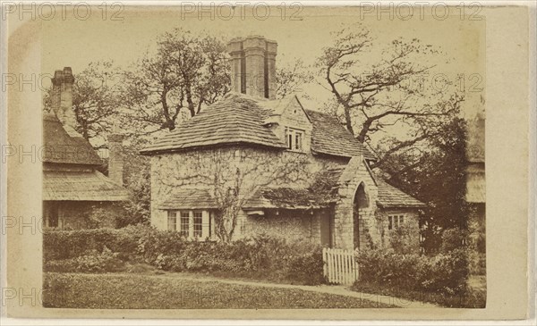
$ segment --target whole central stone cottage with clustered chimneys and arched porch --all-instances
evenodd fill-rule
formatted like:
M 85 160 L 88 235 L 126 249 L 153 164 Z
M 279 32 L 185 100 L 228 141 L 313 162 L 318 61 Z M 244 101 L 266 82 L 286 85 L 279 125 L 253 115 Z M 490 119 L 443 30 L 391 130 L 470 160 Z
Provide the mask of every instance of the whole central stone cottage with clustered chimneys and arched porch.
M 234 92 L 141 151 L 151 156 L 151 223 L 199 240 L 259 233 L 347 249 L 419 243 L 420 201 L 370 169 L 375 156 L 334 117 L 275 99 L 277 43 L 234 39 Z

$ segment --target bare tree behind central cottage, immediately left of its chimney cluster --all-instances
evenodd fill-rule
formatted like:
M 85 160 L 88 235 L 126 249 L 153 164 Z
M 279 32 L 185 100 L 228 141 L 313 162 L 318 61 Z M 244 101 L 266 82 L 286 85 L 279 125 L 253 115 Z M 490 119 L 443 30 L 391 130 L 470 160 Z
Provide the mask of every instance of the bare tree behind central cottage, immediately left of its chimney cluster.
M 183 111 L 194 116 L 230 87 L 226 46 L 218 38 L 184 29 L 162 34 L 155 54 L 127 73 L 127 117 L 144 130 L 174 130 Z

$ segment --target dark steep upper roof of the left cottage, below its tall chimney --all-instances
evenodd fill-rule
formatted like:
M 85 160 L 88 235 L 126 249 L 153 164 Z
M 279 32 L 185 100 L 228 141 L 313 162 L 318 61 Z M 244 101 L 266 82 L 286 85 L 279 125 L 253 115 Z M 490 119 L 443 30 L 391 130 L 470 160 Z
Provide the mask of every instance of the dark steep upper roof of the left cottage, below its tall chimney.
M 43 162 L 100 165 L 102 162 L 90 143 L 72 137 L 53 113 L 43 116 Z

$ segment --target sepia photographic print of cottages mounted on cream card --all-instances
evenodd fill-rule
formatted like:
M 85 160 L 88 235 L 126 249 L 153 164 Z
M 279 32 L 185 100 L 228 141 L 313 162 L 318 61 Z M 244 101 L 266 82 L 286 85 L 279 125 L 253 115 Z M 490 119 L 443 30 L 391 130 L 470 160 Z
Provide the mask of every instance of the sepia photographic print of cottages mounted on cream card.
M 488 307 L 482 4 L 32 5 L 52 316 Z

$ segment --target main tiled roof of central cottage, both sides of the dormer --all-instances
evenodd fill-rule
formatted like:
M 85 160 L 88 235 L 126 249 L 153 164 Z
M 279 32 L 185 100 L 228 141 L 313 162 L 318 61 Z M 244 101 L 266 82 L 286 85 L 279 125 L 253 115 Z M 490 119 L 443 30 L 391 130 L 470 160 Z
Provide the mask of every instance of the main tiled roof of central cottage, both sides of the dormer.
M 294 97 L 291 98 L 294 100 Z M 151 155 L 184 148 L 248 143 L 286 148 L 265 126 L 271 117 L 281 114 L 290 100 L 265 99 L 229 93 L 189 121 L 141 150 Z M 329 114 L 306 110 L 313 124 L 311 150 L 318 154 L 352 157 L 363 155 L 374 159 L 371 152 Z

